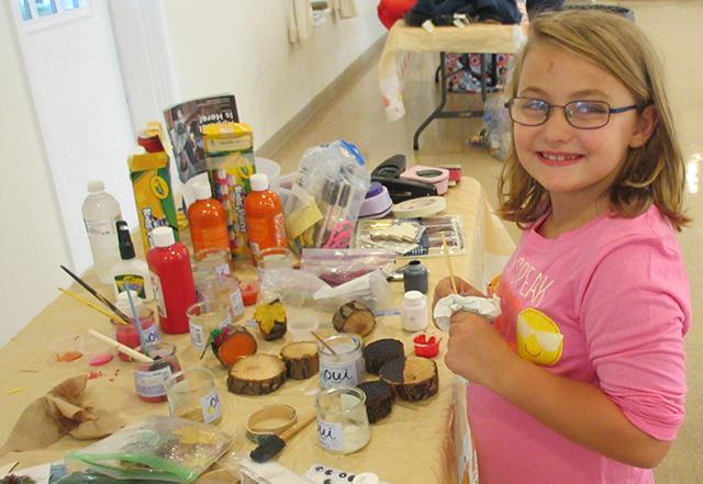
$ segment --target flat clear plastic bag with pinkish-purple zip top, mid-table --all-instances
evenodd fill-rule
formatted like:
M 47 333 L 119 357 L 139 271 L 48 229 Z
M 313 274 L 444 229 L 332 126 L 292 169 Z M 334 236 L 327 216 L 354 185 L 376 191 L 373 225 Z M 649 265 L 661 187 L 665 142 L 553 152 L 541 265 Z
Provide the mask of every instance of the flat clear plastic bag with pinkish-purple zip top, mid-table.
M 394 260 L 395 252 L 386 249 L 303 249 L 301 269 L 334 288 L 376 269 L 388 277 Z

